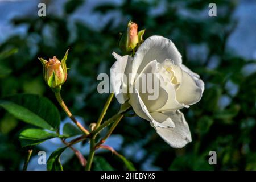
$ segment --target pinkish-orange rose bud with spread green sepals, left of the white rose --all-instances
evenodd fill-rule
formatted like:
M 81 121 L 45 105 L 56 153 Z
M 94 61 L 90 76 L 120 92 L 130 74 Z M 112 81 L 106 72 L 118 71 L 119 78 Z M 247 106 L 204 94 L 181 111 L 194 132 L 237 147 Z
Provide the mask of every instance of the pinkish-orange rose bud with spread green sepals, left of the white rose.
M 59 61 L 56 56 L 53 56 L 52 59 L 50 58 L 49 61 L 38 58 L 43 64 L 44 80 L 47 85 L 56 92 L 59 92 L 61 85 L 67 80 L 67 57 L 68 51 L 61 61 Z

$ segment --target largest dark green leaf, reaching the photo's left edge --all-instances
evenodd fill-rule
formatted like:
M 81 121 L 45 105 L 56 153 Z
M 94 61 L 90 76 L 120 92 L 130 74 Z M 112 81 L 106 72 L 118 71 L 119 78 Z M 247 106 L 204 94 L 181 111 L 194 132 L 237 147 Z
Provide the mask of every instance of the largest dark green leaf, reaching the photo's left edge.
M 16 94 L 0 100 L 0 106 L 14 117 L 31 125 L 57 130 L 60 114 L 56 106 L 45 97 L 33 94 Z

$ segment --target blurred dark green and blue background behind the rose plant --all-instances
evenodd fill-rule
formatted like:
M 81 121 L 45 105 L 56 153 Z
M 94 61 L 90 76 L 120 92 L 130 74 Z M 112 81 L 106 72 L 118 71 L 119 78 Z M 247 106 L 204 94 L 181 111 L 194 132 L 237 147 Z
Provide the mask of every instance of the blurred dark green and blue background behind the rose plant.
M 38 17 L 38 3 L 47 16 Z M 217 5 L 217 17 L 208 5 Z M 138 117 L 119 123 L 109 145 L 139 170 L 256 170 L 256 2 L 167 0 L 0 1 L 0 98 L 34 93 L 57 102 L 42 77 L 37 57 L 61 59 L 70 48 L 68 80 L 62 94 L 88 126 L 100 114 L 108 94 L 97 93 L 98 73 L 109 73 L 119 32 L 133 20 L 144 38 L 162 35 L 183 55 L 183 63 L 205 82 L 202 100 L 182 109 L 192 143 L 182 149 L 168 146 L 147 121 Z M 116 113 L 112 103 L 107 118 Z M 63 112 L 61 118 L 68 122 Z M 26 150 L 18 134 L 28 125 L 0 109 L 0 170 L 22 168 Z M 47 156 L 60 146 L 52 139 L 35 148 L 30 170 L 45 169 L 36 151 Z M 88 154 L 88 146 L 77 146 Z M 208 152 L 217 152 L 209 165 Z M 64 169 L 82 169 L 69 151 L 61 157 Z M 93 169 L 126 169 L 110 152 L 96 155 Z

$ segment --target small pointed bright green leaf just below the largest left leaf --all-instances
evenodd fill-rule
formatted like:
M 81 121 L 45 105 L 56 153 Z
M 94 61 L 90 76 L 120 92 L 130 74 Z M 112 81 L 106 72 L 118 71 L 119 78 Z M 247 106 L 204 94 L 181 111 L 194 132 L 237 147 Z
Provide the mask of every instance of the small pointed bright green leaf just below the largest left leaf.
M 43 129 L 26 129 L 19 134 L 19 140 L 22 147 L 34 146 L 55 137 L 57 137 L 56 133 L 49 133 Z

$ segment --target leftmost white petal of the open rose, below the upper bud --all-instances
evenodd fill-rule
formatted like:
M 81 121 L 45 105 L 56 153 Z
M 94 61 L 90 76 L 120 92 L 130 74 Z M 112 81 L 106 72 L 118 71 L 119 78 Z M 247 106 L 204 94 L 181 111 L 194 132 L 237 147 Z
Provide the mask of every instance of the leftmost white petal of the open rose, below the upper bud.
M 129 78 L 128 73 L 131 68 L 131 61 L 133 57 L 131 56 L 119 56 L 117 53 L 113 53 L 113 56 L 117 61 L 110 68 L 110 84 L 112 86 L 112 90 L 114 91 L 115 97 L 117 98 L 120 104 L 125 103 L 129 98 L 129 94 L 125 90 L 127 90 L 126 78 Z

